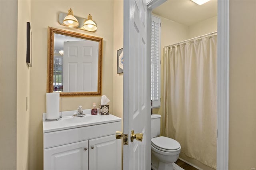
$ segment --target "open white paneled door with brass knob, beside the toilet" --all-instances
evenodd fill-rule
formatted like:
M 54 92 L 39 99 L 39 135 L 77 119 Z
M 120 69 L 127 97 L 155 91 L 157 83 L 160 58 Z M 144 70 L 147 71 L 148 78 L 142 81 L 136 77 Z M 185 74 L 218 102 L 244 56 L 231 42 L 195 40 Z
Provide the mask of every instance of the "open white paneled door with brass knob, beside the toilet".
M 150 170 L 150 54 L 147 57 L 147 6 L 143 0 L 124 0 L 124 134 L 123 170 Z M 151 32 L 150 32 L 151 34 Z M 131 130 L 143 133 L 130 140 Z

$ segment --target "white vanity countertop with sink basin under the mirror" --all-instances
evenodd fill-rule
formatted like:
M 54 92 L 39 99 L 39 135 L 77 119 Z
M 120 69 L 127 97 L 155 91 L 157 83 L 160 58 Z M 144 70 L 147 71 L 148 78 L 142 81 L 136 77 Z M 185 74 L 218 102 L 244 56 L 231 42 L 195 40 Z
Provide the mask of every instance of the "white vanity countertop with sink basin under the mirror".
M 83 110 L 85 117 L 72 117 L 76 111 L 62 112 L 62 118 L 56 120 L 45 120 L 46 113 L 43 113 L 43 132 L 53 132 L 57 130 L 65 130 L 70 128 L 86 127 L 92 125 L 99 125 L 104 123 L 118 122 L 122 119 L 114 115 L 91 115 L 91 109 Z M 60 112 L 61 115 L 61 112 Z

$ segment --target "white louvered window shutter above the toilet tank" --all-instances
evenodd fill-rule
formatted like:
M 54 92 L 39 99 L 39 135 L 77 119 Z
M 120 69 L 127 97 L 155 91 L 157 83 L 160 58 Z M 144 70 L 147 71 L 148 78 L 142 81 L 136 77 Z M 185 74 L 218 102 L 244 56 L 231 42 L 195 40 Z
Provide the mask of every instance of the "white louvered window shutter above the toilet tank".
M 153 107 L 160 107 L 160 18 L 152 16 L 151 24 L 151 100 Z

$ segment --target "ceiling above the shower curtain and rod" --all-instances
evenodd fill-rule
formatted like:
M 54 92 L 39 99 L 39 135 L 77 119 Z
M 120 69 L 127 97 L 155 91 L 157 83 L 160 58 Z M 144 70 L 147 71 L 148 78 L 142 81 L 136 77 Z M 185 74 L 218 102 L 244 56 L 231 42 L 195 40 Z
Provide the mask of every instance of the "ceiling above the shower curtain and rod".
M 217 0 L 198 5 L 190 0 L 167 0 L 153 14 L 190 26 L 217 16 Z

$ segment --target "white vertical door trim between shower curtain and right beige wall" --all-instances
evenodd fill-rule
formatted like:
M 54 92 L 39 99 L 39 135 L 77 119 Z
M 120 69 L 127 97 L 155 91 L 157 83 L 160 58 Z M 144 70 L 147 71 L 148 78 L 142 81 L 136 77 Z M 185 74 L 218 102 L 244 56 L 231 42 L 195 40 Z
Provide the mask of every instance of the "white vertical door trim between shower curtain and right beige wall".
M 229 0 L 218 0 L 217 170 L 228 170 L 229 135 Z

